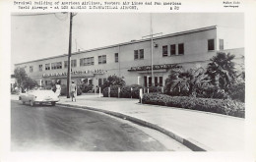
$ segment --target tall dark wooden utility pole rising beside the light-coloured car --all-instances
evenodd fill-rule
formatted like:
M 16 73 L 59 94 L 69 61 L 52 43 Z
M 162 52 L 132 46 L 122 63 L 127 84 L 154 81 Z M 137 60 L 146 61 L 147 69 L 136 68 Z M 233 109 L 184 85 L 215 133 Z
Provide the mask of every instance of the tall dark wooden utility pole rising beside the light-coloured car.
M 69 53 L 68 53 L 68 76 L 67 76 L 67 98 L 70 98 L 70 81 L 71 81 L 71 48 L 72 48 L 72 19 L 73 14 L 70 13 L 70 24 L 69 24 Z

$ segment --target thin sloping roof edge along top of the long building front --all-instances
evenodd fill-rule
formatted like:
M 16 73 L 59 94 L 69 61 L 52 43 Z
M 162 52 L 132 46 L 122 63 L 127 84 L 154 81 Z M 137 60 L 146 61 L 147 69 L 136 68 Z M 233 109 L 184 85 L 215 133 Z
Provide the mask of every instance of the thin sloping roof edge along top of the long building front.
M 175 33 L 169 33 L 169 34 L 165 34 L 165 35 L 161 35 L 161 36 L 156 36 L 156 37 L 153 37 L 153 39 L 156 40 L 156 39 L 161 39 L 161 38 L 166 38 L 166 37 L 173 37 L 173 36 L 178 36 L 178 35 L 183 35 L 183 34 L 188 34 L 188 33 L 193 33 L 193 32 L 199 32 L 199 31 L 204 31 L 204 30 L 209 30 L 209 29 L 215 29 L 215 28 L 217 28 L 217 26 L 201 27 L 201 28 L 190 29 L 190 30 L 185 30 L 185 31 L 180 31 L 180 32 L 175 32 Z M 151 40 L 151 38 L 140 39 L 140 40 L 131 40 L 131 41 L 124 42 L 124 43 L 113 44 L 113 45 L 108 45 L 108 46 L 103 46 L 103 47 L 98 47 L 98 48 L 83 50 L 83 51 L 79 51 L 79 52 L 73 52 L 72 55 L 77 55 L 77 54 L 81 54 L 81 53 L 92 52 L 92 51 L 101 50 L 101 49 L 106 49 L 106 48 L 118 47 L 118 46 L 123 46 L 123 45 L 128 45 L 128 44 L 135 44 L 135 43 L 140 43 L 140 42 L 150 41 L 150 40 Z M 23 62 L 23 63 L 17 63 L 17 64 L 15 64 L 15 65 L 17 66 L 17 65 L 21 65 L 21 64 L 32 63 L 32 62 L 43 61 L 43 60 L 49 60 L 49 59 L 54 59 L 54 58 L 64 57 L 64 56 L 68 56 L 68 54 L 63 54 L 63 55 L 58 55 L 58 56 L 52 56 L 52 57 L 47 57 L 47 58 L 32 60 L 32 61 Z

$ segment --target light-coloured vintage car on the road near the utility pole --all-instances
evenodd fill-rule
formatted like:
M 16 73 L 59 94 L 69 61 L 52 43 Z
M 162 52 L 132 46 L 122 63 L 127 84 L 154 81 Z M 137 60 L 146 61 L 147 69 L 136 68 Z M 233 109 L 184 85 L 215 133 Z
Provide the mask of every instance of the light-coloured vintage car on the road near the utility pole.
M 54 106 L 55 103 L 59 101 L 59 97 L 52 90 L 36 89 L 21 93 L 19 100 L 21 100 L 23 104 L 29 102 L 31 106 L 34 106 L 36 103 L 51 103 L 51 105 Z

